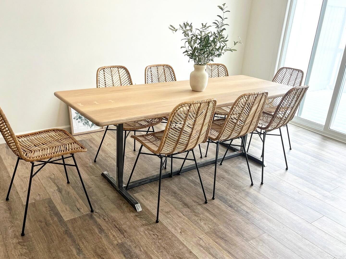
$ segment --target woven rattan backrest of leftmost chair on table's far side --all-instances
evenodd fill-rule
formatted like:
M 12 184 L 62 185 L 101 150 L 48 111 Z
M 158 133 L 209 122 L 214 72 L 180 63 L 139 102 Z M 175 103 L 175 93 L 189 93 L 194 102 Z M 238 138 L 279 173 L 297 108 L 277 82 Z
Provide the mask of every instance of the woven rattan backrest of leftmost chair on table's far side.
M 96 72 L 96 87 L 132 85 L 132 79 L 124 66 L 100 67 Z

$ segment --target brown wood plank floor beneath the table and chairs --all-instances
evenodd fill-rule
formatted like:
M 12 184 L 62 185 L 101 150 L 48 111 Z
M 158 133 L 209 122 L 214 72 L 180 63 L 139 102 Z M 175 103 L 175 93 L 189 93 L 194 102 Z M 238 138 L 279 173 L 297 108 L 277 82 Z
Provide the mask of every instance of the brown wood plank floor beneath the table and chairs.
M 289 130 L 292 150 L 283 130 L 288 171 L 280 137 L 267 136 L 264 185 L 261 167 L 251 163 L 250 186 L 244 157 L 218 166 L 215 200 L 214 166 L 200 169 L 208 204 L 196 170 L 164 179 L 158 224 L 157 182 L 129 191 L 142 205 L 135 212 L 101 176 L 116 171 L 115 132 L 107 133 L 97 163 L 93 157 L 103 132 L 80 135 L 88 152 L 76 154 L 76 160 L 95 212 L 76 170 L 68 168 L 66 184 L 63 167 L 49 164 L 33 179 L 25 237 L 20 232 L 30 165 L 20 162 L 5 201 L 16 157 L 1 144 L 0 258 L 346 258 L 346 145 L 293 125 Z M 261 145 L 255 137 L 249 152 L 260 155 Z M 136 155 L 130 138 L 124 180 Z M 158 173 L 159 163 L 141 156 L 133 179 Z

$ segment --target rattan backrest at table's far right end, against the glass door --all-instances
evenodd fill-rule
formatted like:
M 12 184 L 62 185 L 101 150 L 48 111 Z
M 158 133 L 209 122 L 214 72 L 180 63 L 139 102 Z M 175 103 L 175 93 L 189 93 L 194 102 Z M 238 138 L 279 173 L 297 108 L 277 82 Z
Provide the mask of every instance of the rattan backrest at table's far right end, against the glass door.
M 277 70 L 273 78 L 273 82 L 295 87 L 302 85 L 303 77 L 304 72 L 300 69 L 282 67 L 279 70 Z

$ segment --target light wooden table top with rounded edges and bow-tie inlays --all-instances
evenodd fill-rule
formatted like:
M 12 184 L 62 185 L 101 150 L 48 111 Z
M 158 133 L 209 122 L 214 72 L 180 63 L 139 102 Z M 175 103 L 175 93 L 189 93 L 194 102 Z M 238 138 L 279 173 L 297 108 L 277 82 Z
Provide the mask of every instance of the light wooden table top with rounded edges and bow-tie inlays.
M 98 126 L 168 116 L 185 101 L 215 98 L 217 107 L 229 106 L 241 94 L 268 91 L 268 98 L 283 96 L 291 87 L 249 76 L 209 78 L 203 92 L 194 92 L 189 80 L 157 84 L 89 88 L 54 95 Z

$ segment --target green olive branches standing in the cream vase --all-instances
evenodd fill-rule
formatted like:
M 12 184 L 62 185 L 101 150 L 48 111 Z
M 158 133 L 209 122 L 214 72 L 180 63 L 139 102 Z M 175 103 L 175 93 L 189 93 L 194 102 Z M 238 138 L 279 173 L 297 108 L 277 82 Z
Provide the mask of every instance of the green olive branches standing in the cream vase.
M 225 23 L 227 19 L 225 13 L 229 11 L 226 10 L 227 6 L 225 7 L 225 4 L 218 6 L 222 11 L 222 16 L 218 15 L 219 19 L 215 20 L 212 25 L 202 23 L 200 29 L 193 29 L 192 23 L 186 21 L 183 25 L 179 25 L 178 29 L 173 25 L 169 26 L 173 33 L 178 30 L 182 31 L 184 36 L 182 40 L 185 40 L 184 46 L 181 47 L 185 49 L 183 54 L 192 59 L 195 65 L 206 65 L 210 61 L 214 61 L 214 58 L 221 57 L 227 51 L 237 51 L 234 47 L 243 44 L 238 37 L 239 41 L 233 41 L 234 45 L 231 48 L 227 47 L 228 35 L 225 36 L 224 31 L 226 30 L 225 27 L 229 26 Z M 212 28 L 214 30 L 211 30 Z

